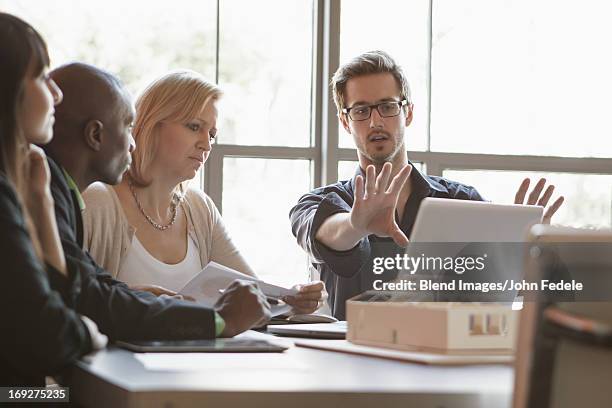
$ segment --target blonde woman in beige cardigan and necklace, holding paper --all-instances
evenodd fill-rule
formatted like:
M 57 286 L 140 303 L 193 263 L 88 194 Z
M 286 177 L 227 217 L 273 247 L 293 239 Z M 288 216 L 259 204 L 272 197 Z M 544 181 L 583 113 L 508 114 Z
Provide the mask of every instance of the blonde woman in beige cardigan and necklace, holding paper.
M 176 295 L 211 261 L 255 276 L 213 201 L 185 187 L 210 154 L 220 97 L 193 71 L 153 81 L 136 101 L 128 174 L 115 187 L 93 184 L 83 196 L 85 246 L 134 288 Z M 286 299 L 296 313 L 315 311 L 326 294 L 322 282 L 298 289 Z

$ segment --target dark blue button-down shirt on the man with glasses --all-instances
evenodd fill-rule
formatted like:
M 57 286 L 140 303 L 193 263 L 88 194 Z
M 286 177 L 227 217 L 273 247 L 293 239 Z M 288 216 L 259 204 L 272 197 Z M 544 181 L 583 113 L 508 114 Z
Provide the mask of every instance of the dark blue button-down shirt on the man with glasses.
M 355 175 L 364 175 L 361 168 Z M 428 176 L 413 167 L 410 174 L 412 193 L 406 201 L 401 230 L 410 238 L 421 201 L 426 197 L 483 201 L 475 188 L 443 177 Z M 366 290 L 372 289 L 374 279 L 389 280 L 393 272 L 381 276 L 372 273 L 372 259 L 378 256 L 394 256 L 404 249 L 391 238 L 369 235 L 348 251 L 335 251 L 315 239 L 323 222 L 330 216 L 350 212 L 353 206 L 355 177 L 317 188 L 300 198 L 291 209 L 290 219 L 293 235 L 298 244 L 308 253 L 312 265 L 319 271 L 329 292 L 332 313 L 345 319 L 345 302 Z

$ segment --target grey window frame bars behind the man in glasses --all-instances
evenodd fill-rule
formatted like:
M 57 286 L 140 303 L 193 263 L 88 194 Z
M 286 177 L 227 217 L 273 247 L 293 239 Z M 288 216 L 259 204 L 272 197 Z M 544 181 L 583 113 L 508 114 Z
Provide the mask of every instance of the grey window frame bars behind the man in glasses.
M 518 156 L 431 151 L 431 62 L 434 0 L 429 0 L 429 37 L 427 62 L 427 150 L 411 151 L 408 157 L 425 164 L 427 173 L 442 176 L 444 170 L 506 170 L 553 173 L 612 175 L 612 158 Z M 218 7 L 217 7 L 218 8 Z M 219 211 L 223 198 L 223 160 L 225 157 L 261 159 L 307 159 L 311 161 L 313 188 L 338 179 L 338 163 L 357 160 L 355 149 L 338 146 L 338 117 L 329 87 L 340 59 L 341 0 L 313 0 L 313 42 L 311 83 L 311 147 L 246 146 L 215 144 L 200 180 L 203 190 Z M 217 30 L 219 30 L 217 19 Z M 218 49 L 218 45 L 217 45 Z M 218 64 L 217 64 L 218 70 Z

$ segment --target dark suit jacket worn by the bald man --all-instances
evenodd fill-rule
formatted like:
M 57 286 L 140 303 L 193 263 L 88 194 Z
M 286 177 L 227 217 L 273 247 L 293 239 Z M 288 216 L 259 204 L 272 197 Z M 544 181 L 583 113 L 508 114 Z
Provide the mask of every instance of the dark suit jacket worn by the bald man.
M 76 310 L 91 318 L 110 340 L 210 339 L 214 310 L 192 302 L 158 298 L 113 279 L 83 250 L 83 220 L 74 193 L 52 157 L 51 193 L 69 270 L 81 277 Z

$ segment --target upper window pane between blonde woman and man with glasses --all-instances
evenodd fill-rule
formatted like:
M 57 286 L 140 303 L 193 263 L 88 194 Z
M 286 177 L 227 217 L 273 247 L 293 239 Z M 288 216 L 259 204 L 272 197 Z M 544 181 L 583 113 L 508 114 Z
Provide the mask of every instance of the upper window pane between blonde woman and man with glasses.
M 312 3 L 223 0 L 219 6 L 225 93 L 219 143 L 310 146 Z

